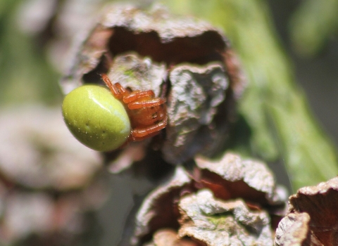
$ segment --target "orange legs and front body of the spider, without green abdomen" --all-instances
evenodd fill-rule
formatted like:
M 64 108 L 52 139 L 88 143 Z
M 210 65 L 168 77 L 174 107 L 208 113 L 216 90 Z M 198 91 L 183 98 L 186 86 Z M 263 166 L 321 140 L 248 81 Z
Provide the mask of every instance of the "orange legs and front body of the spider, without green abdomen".
M 125 105 L 132 127 L 127 142 L 142 141 L 165 128 L 168 117 L 164 98 L 156 98 L 151 90 L 130 91 L 120 83 L 113 84 L 105 74 L 101 77 L 113 96 Z

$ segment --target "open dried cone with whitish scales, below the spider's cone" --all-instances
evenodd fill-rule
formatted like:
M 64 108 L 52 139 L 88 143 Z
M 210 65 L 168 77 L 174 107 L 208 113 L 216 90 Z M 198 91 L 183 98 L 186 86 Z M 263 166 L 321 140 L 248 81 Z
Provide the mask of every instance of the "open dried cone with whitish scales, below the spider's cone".
M 197 157 L 196 162 L 197 167 L 202 169 L 201 173 L 179 166 L 167 183 L 144 199 L 137 213 L 133 244 L 154 241 L 156 232 L 170 228 L 178 231 L 180 237 L 191 236 L 206 245 L 214 242 L 227 245 L 224 241 L 226 233 L 230 241 L 241 238 L 248 242 L 246 245 L 252 245 L 251 242 L 269 242 L 258 245 L 272 245 L 270 228 L 275 228 L 274 219 L 278 222 L 280 214 L 284 215 L 286 196 L 275 185 L 268 168 L 261 162 L 242 160 L 232 153 L 225 154 L 218 160 L 219 163 L 205 157 Z M 262 180 L 257 181 L 256 175 Z M 211 176 L 218 178 L 206 179 Z M 219 216 L 229 213 L 230 216 L 218 221 Z M 196 221 L 192 219 L 194 214 Z M 217 223 L 213 224 L 205 216 Z M 232 231 L 236 232 L 235 238 L 232 238 Z M 215 237 L 220 237 L 220 241 L 214 241 Z

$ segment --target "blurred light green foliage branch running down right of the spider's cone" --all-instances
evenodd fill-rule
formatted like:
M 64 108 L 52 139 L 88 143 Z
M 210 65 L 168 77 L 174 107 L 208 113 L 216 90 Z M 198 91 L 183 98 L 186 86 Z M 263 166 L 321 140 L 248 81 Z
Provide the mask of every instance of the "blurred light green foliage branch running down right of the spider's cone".
M 244 65 L 248 79 L 239 101 L 247 142 L 234 150 L 265 161 L 282 160 L 294 188 L 338 174 L 335 150 L 313 120 L 305 98 L 294 85 L 289 59 L 276 39 L 264 1 L 170 0 L 176 13 L 191 13 L 223 28 Z

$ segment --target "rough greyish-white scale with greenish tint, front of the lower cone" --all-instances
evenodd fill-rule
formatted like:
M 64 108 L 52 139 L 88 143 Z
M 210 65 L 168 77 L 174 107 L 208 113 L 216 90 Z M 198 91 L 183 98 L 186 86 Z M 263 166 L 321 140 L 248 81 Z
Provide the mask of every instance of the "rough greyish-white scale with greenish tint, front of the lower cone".
M 187 195 L 179 203 L 183 215 L 179 235 L 206 245 L 273 245 L 270 218 L 252 211 L 242 200 L 222 201 L 210 190 Z

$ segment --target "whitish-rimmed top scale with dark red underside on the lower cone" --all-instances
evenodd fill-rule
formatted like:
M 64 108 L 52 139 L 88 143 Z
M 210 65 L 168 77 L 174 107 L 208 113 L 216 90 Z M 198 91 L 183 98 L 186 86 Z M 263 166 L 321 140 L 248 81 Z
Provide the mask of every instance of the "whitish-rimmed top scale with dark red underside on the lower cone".
M 244 198 L 261 205 L 283 205 L 284 194 L 276 186 L 273 173 L 262 162 L 243 160 L 226 153 L 218 160 L 196 157 L 196 165 L 205 183 L 218 184 L 227 190 L 227 198 Z M 222 196 L 220 196 L 222 198 Z

